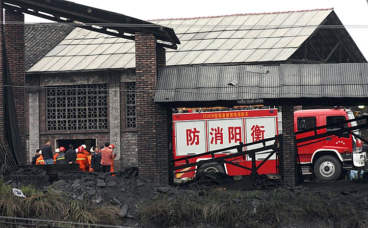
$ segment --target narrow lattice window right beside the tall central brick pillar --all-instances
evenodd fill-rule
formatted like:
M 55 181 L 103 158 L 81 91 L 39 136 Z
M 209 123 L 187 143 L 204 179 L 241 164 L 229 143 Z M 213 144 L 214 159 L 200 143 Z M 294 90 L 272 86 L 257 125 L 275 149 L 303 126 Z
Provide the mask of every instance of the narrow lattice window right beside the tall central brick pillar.
M 137 127 L 137 112 L 135 104 L 135 82 L 125 83 L 125 122 L 127 128 Z

